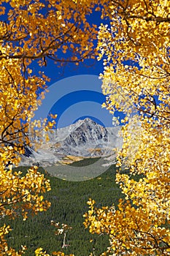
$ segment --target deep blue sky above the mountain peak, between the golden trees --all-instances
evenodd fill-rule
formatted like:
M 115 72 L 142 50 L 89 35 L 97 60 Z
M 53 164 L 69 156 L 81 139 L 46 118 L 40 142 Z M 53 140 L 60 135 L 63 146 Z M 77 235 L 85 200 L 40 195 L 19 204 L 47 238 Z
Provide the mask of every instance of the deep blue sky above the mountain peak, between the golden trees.
M 88 20 L 98 26 L 101 23 L 106 23 L 106 20 L 100 19 L 98 12 L 93 12 Z M 92 118 L 105 127 L 112 126 L 112 115 L 108 110 L 101 108 L 101 104 L 105 101 L 101 91 L 101 80 L 98 79 L 98 75 L 103 72 L 102 61 L 94 61 L 92 66 L 89 64 L 91 61 L 86 60 L 79 66 L 68 64 L 62 70 L 53 61 L 47 59 L 47 67 L 40 68 L 34 65 L 34 72 L 37 71 L 36 69 L 43 69 L 45 75 L 50 78 L 50 82 L 47 83 L 50 93 L 46 94 L 42 105 L 36 111 L 36 119 L 47 117 L 47 113 L 57 113 L 55 128 L 69 126 L 78 119 L 86 117 Z M 83 76 L 80 78 L 80 75 L 86 75 L 88 78 Z M 90 87 L 85 82 L 86 78 L 88 79 L 87 83 L 92 83 Z M 64 83 L 61 82 L 62 80 Z M 78 83 L 81 83 L 80 87 Z

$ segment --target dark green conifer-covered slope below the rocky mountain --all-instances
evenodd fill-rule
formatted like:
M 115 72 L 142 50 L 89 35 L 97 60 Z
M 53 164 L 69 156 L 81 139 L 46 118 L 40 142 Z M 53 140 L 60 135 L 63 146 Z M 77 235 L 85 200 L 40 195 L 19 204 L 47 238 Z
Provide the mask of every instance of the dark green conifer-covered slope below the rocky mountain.
M 93 159 L 86 159 L 74 165 L 85 166 L 92 162 Z M 25 173 L 28 168 L 18 169 Z M 45 173 L 42 167 L 39 171 Z M 112 165 L 101 176 L 81 182 L 63 181 L 46 173 L 46 178 L 50 179 L 51 191 L 45 194 L 45 199 L 51 202 L 50 209 L 29 217 L 25 222 L 21 217 L 6 220 L 12 227 L 12 232 L 9 233 L 9 246 L 18 250 L 21 244 L 26 245 L 26 256 L 34 255 L 37 247 L 45 248 L 49 253 L 62 251 L 75 256 L 87 256 L 95 252 L 96 256 L 100 255 L 109 246 L 108 236 L 92 235 L 85 230 L 82 215 L 88 211 L 89 197 L 95 198 L 98 207 L 117 204 L 120 189 L 115 184 L 115 173 L 115 166 Z M 62 249 L 63 234 L 55 236 L 55 227 L 50 225 L 51 220 L 72 227 L 72 230 L 66 233 L 66 244 L 69 246 L 65 249 Z M 4 219 L 1 219 L 1 222 L 3 223 Z

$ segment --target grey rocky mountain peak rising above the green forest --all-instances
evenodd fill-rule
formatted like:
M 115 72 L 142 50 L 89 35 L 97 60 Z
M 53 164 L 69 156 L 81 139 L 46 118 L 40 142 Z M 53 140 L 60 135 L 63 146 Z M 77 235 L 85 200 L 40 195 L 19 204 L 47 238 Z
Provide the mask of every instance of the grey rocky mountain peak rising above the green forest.
M 69 127 L 48 132 L 50 140 L 42 143 L 37 151 L 27 148 L 27 153 L 31 154 L 23 156 L 22 163 L 40 162 L 45 166 L 66 158 L 109 156 L 113 148 L 122 144 L 119 131 L 120 127 L 102 127 L 85 118 Z

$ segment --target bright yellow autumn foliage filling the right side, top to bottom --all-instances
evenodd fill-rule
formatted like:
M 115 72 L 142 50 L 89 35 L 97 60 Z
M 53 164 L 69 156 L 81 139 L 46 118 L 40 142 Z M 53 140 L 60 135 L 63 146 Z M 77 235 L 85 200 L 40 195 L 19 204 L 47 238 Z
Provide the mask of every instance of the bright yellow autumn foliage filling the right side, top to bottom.
M 125 200 L 101 209 L 90 200 L 85 214 L 91 233 L 109 235 L 104 255 L 170 252 L 169 13 L 170 1 L 112 0 L 98 33 L 105 107 L 125 113 L 116 177 Z

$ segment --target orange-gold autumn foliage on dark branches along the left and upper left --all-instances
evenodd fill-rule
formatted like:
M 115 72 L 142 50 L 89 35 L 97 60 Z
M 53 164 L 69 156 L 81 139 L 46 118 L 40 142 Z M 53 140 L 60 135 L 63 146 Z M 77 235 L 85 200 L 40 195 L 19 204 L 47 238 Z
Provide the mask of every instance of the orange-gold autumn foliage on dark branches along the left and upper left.
M 34 110 L 45 97 L 45 83 L 49 80 L 43 72 L 37 75 L 33 62 L 46 66 L 48 59 L 58 67 L 68 62 L 79 64 L 84 59 L 94 59 L 93 40 L 97 28 L 88 23 L 87 15 L 98 1 L 0 1 L 0 217 L 15 218 L 46 211 L 50 203 L 42 194 L 50 190 L 49 181 L 32 167 L 25 176 L 16 172 L 20 154 L 30 144 L 29 132 L 33 127 L 53 127 L 46 121 L 34 121 Z M 66 54 L 65 54 L 66 53 Z M 37 100 L 38 91 L 43 91 Z M 31 133 L 34 136 L 34 133 Z M 48 138 L 46 138 L 48 140 Z M 9 165 L 7 167 L 7 165 Z M 4 236 L 9 227 L 0 228 L 0 254 L 22 255 L 24 249 L 9 249 Z M 42 249 L 36 255 L 47 255 Z M 63 255 L 56 252 L 55 255 Z

